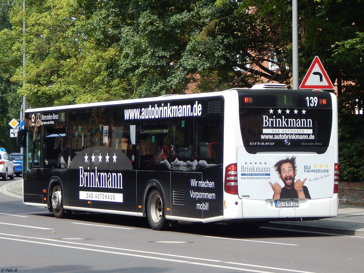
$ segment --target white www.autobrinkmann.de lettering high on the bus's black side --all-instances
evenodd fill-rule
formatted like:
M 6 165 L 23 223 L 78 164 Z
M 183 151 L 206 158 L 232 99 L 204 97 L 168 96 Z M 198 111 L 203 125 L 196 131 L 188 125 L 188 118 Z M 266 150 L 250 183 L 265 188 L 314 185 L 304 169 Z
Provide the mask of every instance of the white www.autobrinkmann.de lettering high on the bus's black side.
M 175 118 L 185 116 L 201 116 L 202 105 L 197 100 L 195 104 L 173 105 L 170 103 L 166 105 L 164 103 L 149 104 L 149 107 L 145 108 L 132 108 L 124 110 L 125 119 L 158 119 L 158 118 Z

